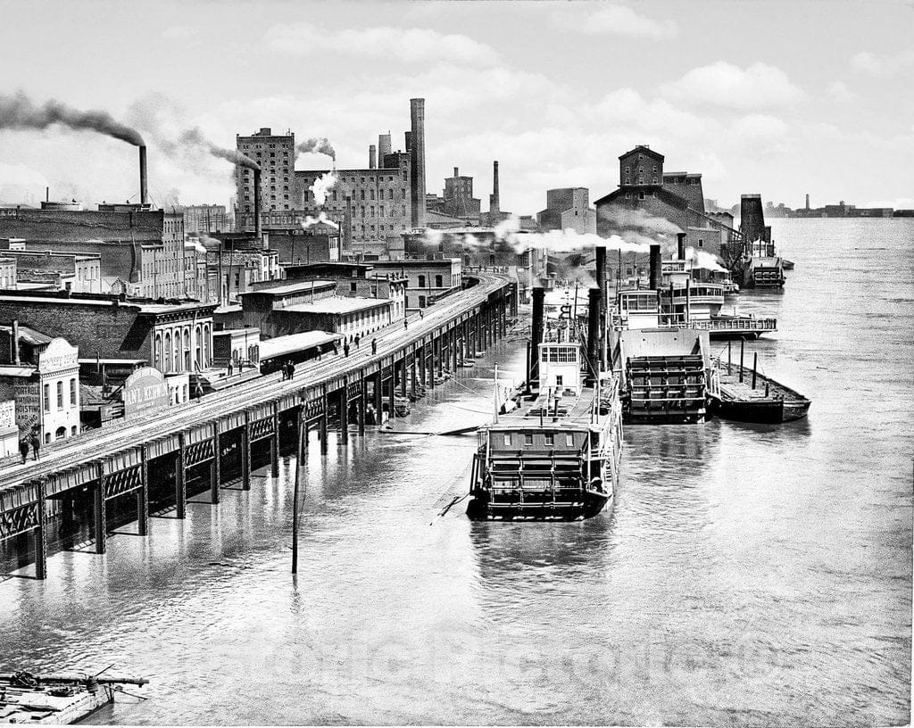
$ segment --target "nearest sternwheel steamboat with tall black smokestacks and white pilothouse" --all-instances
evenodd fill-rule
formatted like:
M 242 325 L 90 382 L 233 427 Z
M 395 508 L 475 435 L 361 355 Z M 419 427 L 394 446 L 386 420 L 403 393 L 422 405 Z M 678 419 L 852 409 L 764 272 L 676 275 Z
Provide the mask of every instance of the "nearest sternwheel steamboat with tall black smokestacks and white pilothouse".
M 600 290 L 590 290 L 586 336 L 565 313 L 546 326 L 547 341 L 543 297 L 533 290 L 526 385 L 478 434 L 467 506 L 473 520 L 574 521 L 614 504 L 622 406 L 617 378 L 601 371 Z

